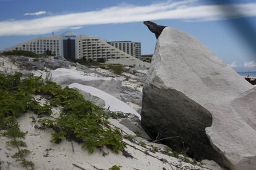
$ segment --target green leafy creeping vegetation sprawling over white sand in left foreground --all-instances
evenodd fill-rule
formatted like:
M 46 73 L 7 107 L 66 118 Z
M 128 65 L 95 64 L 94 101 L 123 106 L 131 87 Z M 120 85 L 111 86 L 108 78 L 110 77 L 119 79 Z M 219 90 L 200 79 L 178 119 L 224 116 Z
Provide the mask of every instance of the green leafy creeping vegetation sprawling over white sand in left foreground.
M 34 95 L 49 99 L 49 105 L 40 105 Z M 30 153 L 23 139 L 25 133 L 20 131 L 17 118 L 28 110 L 37 115 L 51 115 L 52 107 L 61 105 L 59 118 L 41 118 L 41 126 L 54 129 L 51 142 L 59 144 L 64 138 L 74 140 L 92 153 L 95 148 L 103 146 L 118 153 L 124 150 L 125 144 L 119 129 L 111 127 L 104 111 L 74 89 L 62 89 L 56 83 L 43 81 L 33 75 L 24 78 L 21 73 L 3 75 L 0 73 L 0 130 L 3 136 L 9 137 L 7 145 L 17 148 L 12 156 L 26 168 L 34 169 L 34 164 L 25 159 Z

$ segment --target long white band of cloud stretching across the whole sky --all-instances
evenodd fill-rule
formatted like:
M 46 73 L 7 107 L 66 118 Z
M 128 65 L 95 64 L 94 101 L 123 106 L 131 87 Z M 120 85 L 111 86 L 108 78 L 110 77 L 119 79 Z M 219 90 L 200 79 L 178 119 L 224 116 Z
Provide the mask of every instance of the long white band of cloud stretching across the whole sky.
M 30 20 L 2 21 L 0 22 L 0 36 L 44 34 L 70 27 L 106 23 L 161 19 L 220 20 L 223 18 L 256 16 L 256 2 L 234 5 L 198 5 L 194 2 L 194 0 L 165 1 L 148 6 L 123 4 L 90 12 L 51 15 Z M 237 10 L 234 10 L 234 8 Z

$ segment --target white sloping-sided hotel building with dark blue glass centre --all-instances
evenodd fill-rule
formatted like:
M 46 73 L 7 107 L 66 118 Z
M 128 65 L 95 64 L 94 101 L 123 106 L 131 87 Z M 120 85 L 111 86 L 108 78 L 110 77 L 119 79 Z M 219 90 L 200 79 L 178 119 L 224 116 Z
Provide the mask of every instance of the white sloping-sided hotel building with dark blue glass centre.
M 85 57 L 85 59 L 92 60 L 103 58 L 106 61 L 113 59 L 135 60 L 132 55 L 111 46 L 107 41 L 96 37 L 76 35 L 70 31 L 58 36 L 31 39 L 9 47 L 4 51 L 15 49 L 32 51 L 36 54 L 43 54 L 49 50 L 53 55 L 62 56 L 66 59 L 81 59 Z

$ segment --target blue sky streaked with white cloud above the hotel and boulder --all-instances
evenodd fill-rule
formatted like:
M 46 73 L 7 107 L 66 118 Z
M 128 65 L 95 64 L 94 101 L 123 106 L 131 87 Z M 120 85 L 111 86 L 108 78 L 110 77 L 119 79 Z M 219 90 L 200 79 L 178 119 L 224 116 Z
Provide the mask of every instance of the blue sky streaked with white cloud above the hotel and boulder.
M 108 41 L 142 42 L 152 54 L 153 20 L 198 38 L 237 71 L 256 71 L 256 0 L 0 0 L 0 49 L 72 30 Z

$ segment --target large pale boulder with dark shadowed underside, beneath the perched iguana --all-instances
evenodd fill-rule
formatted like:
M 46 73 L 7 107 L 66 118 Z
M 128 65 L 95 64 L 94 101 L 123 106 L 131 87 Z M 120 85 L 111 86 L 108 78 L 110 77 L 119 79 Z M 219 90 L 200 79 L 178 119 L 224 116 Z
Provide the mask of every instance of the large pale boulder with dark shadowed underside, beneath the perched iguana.
M 229 169 L 256 167 L 256 92 L 196 38 L 164 28 L 143 88 L 151 136 Z

